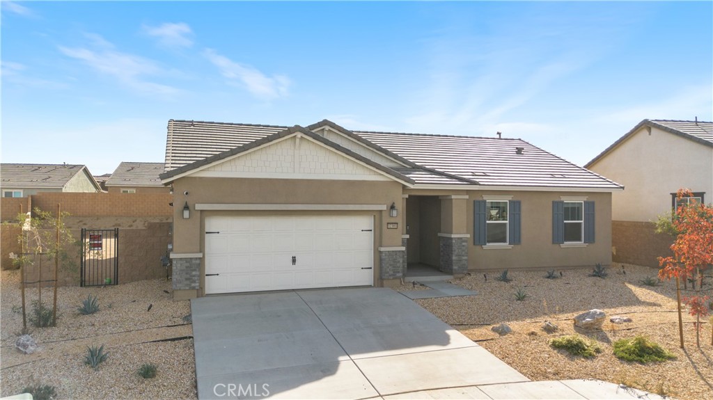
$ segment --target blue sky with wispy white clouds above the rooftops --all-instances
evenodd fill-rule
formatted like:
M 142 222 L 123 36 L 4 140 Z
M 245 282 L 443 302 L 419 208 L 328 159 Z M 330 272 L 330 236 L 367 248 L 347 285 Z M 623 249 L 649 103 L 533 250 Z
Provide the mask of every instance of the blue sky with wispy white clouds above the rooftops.
M 2 162 L 163 162 L 169 119 L 520 137 L 713 120 L 713 3 L 2 1 Z

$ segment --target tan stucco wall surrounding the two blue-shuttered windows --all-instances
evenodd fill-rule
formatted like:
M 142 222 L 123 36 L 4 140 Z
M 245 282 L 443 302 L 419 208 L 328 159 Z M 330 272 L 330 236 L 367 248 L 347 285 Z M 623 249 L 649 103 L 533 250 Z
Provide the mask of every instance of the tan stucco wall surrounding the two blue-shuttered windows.
M 611 194 L 569 191 L 469 191 L 468 269 L 568 268 L 612 262 Z M 483 195 L 513 196 L 521 202 L 521 244 L 506 249 L 485 249 L 473 244 L 473 201 Z M 595 243 L 562 248 L 552 243 L 552 202 L 560 196 L 586 196 L 595 201 Z

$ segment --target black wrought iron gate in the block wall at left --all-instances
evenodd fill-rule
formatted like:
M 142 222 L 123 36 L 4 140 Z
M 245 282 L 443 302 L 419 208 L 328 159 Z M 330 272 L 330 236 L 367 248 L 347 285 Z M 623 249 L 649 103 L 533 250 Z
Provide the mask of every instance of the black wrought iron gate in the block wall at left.
M 119 283 L 119 228 L 82 228 L 81 286 Z

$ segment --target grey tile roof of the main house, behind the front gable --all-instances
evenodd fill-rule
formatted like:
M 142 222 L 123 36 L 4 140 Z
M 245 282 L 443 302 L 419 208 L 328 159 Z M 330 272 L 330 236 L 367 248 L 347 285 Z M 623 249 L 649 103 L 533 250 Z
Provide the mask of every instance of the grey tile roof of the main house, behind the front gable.
M 416 184 L 545 186 L 563 189 L 575 187 L 620 189 L 622 187 L 523 140 L 352 132 L 327 120 L 309 125 L 308 128 L 314 130 L 323 125 L 336 127 L 350 137 L 355 137 L 359 142 L 369 144 L 369 147 L 375 151 L 402 160 L 405 167 L 394 167 L 391 170 Z M 236 147 L 245 146 L 287 129 L 291 128 L 275 125 L 170 120 L 165 170 L 168 172 L 183 167 L 180 168 L 183 172 L 189 171 L 205 164 L 206 161 L 197 162 L 201 159 L 214 156 L 210 161 L 214 162 L 227 157 L 223 155 L 215 158 L 217 154 L 235 154 L 235 151 L 242 150 Z M 324 140 L 322 137 L 319 138 Z M 334 145 L 344 149 L 338 144 Z M 235 150 L 228 153 L 232 149 Z M 162 178 L 173 177 L 179 173 L 164 174 Z

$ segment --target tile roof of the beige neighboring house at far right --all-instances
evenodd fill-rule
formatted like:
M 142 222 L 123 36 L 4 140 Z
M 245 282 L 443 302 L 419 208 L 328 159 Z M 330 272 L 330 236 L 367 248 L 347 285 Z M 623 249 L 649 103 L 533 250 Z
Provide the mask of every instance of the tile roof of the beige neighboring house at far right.
M 603 152 L 597 154 L 592 161 L 585 164 L 585 168 L 589 168 L 595 162 L 599 161 L 606 154 L 611 152 L 615 147 L 629 139 L 632 135 L 638 132 L 642 127 L 655 127 L 672 135 L 683 137 L 687 140 L 692 140 L 704 146 L 713 147 L 713 122 L 704 121 L 679 121 L 679 120 L 642 120 L 632 128 L 626 135 L 617 139 Z

